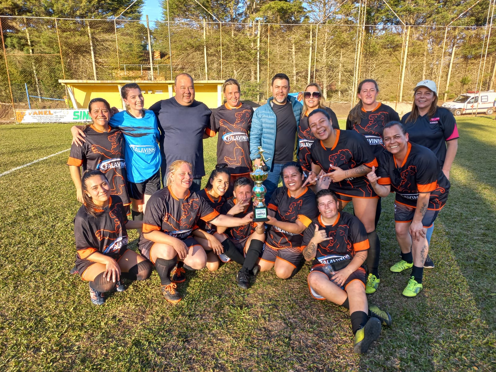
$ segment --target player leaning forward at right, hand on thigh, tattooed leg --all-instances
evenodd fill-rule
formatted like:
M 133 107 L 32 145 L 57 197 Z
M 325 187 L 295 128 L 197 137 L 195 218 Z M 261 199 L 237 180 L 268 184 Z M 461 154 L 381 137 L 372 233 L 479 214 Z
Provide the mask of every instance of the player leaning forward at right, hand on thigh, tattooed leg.
M 412 267 L 403 295 L 415 297 L 422 290 L 424 262 L 429 252 L 427 229 L 448 198 L 449 181 L 430 149 L 409 141 L 399 122 L 386 124 L 383 132 L 387 152 L 381 154 L 379 167 L 367 177 L 380 196 L 396 192 L 394 219 L 401 261 L 391 266 L 393 272 Z

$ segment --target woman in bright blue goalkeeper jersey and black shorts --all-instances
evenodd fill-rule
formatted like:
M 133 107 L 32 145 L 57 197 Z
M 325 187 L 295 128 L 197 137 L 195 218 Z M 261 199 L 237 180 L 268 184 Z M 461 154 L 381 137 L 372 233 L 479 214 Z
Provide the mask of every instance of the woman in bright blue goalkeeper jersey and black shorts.
M 138 84 L 125 84 L 121 88 L 121 96 L 126 104 L 126 111 L 114 114 L 109 125 L 120 129 L 124 134 L 124 158 L 132 218 L 142 221 L 146 202 L 160 189 L 160 133 L 155 114 L 143 109 L 144 98 Z M 73 142 L 81 144 L 84 134 L 80 128 L 73 126 L 71 131 Z

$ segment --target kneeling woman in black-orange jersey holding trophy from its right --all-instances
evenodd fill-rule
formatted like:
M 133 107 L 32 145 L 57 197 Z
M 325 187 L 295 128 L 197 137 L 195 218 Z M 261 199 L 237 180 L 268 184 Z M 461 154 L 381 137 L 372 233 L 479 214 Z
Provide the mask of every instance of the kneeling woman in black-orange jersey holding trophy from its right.
M 281 170 L 284 186 L 276 188 L 268 207 L 270 225 L 260 258 L 261 271 L 275 269 L 281 279 L 298 271 L 303 259 L 303 232 L 317 215 L 315 194 L 304 186 L 305 176 L 298 162 L 286 163 Z

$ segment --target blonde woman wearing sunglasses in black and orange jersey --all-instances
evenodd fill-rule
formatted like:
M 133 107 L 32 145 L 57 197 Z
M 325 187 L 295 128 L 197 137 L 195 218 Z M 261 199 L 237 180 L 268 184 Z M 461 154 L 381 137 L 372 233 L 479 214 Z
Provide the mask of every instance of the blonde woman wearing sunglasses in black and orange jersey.
M 309 127 L 309 114 L 316 109 L 322 109 L 329 114 L 332 127 L 339 129 L 338 119 L 334 111 L 324 105 L 322 90 L 317 83 L 310 83 L 303 92 L 303 110 L 298 126 L 298 160 L 303 170 L 308 174 L 311 171 L 310 146 L 315 140 Z

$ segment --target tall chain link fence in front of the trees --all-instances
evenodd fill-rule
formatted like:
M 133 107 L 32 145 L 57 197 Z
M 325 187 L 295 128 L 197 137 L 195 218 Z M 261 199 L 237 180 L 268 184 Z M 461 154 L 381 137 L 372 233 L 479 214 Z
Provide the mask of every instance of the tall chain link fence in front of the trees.
M 263 102 L 278 72 L 291 91 L 321 84 L 332 102 L 353 102 L 358 82 L 379 98 L 412 100 L 423 79 L 440 100 L 495 88 L 492 27 L 268 24 L 0 16 L 0 102 L 17 109 L 69 105 L 59 79 L 195 80 L 234 77 L 243 99 Z M 493 32 L 491 32 L 493 31 Z M 28 101 L 29 99 L 29 101 Z

